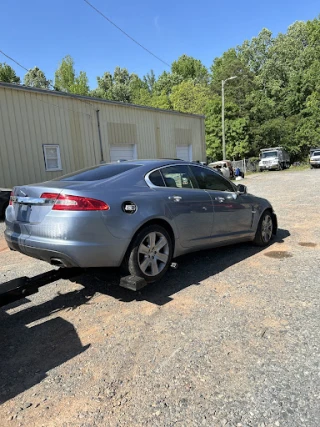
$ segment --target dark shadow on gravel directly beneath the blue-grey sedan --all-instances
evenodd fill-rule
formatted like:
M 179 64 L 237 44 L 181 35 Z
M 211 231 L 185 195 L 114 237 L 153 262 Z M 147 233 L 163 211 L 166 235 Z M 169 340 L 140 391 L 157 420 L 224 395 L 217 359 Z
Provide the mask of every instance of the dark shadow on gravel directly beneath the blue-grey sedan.
M 274 243 L 282 243 L 290 236 L 288 230 L 279 229 L 269 248 Z M 96 292 L 109 295 L 122 302 L 148 301 L 156 305 L 164 305 L 172 300 L 172 295 L 188 286 L 200 285 L 201 282 L 223 270 L 250 258 L 265 248 L 253 246 L 251 243 L 225 246 L 178 258 L 178 269 L 171 269 L 165 277 L 154 284 L 150 284 L 138 292 L 121 288 L 120 272 L 118 269 L 89 269 L 85 274 L 74 280 L 84 286 L 86 298 L 91 299 Z M 78 305 L 76 299 L 70 303 Z

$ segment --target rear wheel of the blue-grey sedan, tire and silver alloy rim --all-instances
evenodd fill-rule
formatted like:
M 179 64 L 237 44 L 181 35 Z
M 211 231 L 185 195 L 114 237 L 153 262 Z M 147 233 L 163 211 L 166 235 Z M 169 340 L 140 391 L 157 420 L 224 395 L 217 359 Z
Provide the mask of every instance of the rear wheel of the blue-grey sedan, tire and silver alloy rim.
M 132 241 L 123 269 L 152 283 L 161 279 L 170 267 L 173 244 L 167 230 L 160 225 L 143 228 Z

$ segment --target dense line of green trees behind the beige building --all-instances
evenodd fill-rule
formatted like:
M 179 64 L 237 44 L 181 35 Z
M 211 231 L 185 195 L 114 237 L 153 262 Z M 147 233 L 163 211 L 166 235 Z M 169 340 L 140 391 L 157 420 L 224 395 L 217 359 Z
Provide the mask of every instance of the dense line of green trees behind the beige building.
M 70 56 L 47 80 L 38 67 L 24 76 L 27 86 L 206 116 L 209 160 L 222 158 L 221 82 L 225 84 L 227 157 L 257 157 L 265 147 L 284 146 L 293 161 L 320 146 L 320 17 L 297 21 L 273 37 L 263 29 L 213 60 L 210 69 L 182 55 L 169 72 L 151 70 L 140 78 L 116 67 L 97 77 L 90 90 L 85 71 L 78 74 Z M 0 81 L 20 83 L 13 68 L 0 64 Z

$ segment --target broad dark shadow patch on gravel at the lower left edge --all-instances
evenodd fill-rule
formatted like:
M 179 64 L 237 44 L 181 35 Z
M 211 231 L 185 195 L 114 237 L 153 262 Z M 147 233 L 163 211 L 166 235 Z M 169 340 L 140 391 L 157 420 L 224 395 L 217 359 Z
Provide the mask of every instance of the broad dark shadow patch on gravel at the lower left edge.
M 60 317 L 30 326 L 32 308 L 20 313 L 24 316 L 0 312 L 0 404 L 89 347 L 82 346 L 74 326 Z

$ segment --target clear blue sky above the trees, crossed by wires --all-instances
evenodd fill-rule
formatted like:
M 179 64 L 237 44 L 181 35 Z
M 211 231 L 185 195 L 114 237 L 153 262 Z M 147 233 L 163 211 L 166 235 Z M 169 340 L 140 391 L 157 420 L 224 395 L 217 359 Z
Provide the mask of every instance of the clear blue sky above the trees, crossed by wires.
M 124 31 L 171 64 L 180 55 L 210 67 L 215 57 L 264 27 L 274 35 L 297 20 L 316 18 L 319 0 L 90 0 Z M 120 33 L 83 0 L 0 1 L 0 49 L 26 68 L 38 66 L 53 79 L 61 59 L 70 54 L 76 71 L 96 77 L 119 65 L 140 77 L 153 69 L 169 70 Z M 0 54 L 23 77 L 24 70 Z

